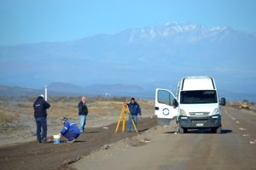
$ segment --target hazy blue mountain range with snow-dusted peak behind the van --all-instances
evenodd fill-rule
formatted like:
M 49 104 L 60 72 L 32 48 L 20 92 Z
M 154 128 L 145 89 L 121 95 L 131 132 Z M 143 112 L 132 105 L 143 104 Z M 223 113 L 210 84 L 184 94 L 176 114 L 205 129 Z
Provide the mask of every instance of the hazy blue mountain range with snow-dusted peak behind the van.
M 148 92 L 176 89 L 184 76 L 209 75 L 224 93 L 251 95 L 256 94 L 254 65 L 255 32 L 166 23 L 69 42 L 0 47 L 0 84 L 127 84 Z

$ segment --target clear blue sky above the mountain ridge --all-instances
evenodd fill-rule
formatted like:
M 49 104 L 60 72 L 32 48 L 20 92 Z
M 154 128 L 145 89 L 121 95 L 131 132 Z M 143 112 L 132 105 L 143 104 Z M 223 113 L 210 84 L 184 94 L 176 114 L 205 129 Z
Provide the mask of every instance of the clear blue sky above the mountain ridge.
M 256 31 L 254 0 L 1 0 L 0 45 L 60 42 L 166 22 Z

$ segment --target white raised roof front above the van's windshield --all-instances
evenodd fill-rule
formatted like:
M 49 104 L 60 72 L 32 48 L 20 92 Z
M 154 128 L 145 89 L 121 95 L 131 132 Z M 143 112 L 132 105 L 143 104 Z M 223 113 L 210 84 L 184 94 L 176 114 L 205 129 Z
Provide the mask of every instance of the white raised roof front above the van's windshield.
M 212 77 L 184 77 L 182 90 L 215 90 Z

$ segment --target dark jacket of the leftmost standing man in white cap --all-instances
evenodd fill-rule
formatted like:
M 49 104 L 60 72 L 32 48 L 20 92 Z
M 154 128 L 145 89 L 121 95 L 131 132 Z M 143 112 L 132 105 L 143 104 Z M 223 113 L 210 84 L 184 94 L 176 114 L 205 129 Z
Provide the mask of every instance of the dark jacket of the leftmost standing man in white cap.
M 34 102 L 34 116 L 35 117 L 47 117 L 46 110 L 49 109 L 50 105 L 41 96 Z

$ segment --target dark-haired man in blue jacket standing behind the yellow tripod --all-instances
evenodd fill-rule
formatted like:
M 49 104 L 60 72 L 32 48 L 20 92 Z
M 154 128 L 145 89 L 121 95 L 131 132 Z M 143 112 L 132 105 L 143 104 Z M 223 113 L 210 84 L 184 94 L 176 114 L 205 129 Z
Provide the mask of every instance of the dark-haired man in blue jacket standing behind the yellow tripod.
M 131 118 L 133 119 L 135 126 L 137 127 L 137 115 L 142 116 L 142 111 L 140 105 L 137 104 L 134 98 L 131 98 L 131 103 L 127 104 L 129 110 L 131 111 L 131 117 L 129 116 L 128 120 L 128 132 L 131 132 Z M 135 129 L 134 129 L 135 130 Z

